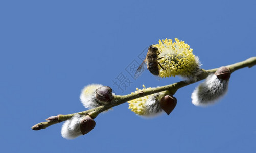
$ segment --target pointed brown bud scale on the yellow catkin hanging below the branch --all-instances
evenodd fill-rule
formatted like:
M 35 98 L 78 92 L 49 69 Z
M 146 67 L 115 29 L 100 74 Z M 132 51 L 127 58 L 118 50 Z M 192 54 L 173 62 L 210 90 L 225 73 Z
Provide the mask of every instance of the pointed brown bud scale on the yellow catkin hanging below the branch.
M 173 111 L 176 104 L 177 99 L 172 95 L 166 95 L 165 97 L 162 97 L 160 101 L 160 107 L 166 112 L 167 115 L 169 115 Z

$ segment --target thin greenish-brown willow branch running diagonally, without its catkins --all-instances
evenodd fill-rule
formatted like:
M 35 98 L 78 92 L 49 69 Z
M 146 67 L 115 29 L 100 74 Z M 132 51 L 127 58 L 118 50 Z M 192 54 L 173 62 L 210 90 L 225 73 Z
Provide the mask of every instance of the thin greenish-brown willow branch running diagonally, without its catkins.
M 232 72 L 234 72 L 234 71 L 236 71 L 238 69 L 245 68 L 245 67 L 249 67 L 250 68 L 250 67 L 252 67 L 254 65 L 256 65 L 256 57 L 251 57 L 251 58 L 249 58 L 249 59 L 247 59 L 245 61 L 238 62 L 238 63 L 231 64 L 231 65 L 227 65 L 226 67 L 228 67 L 230 69 L 231 73 L 232 73 Z M 196 82 L 205 79 L 209 74 L 215 73 L 216 70 L 217 70 L 217 68 L 210 69 L 210 70 L 201 69 L 202 73 L 198 77 Z M 168 90 L 171 94 L 175 94 L 176 91 L 179 88 L 182 88 L 184 86 L 190 85 L 192 83 L 195 83 L 195 82 L 180 81 L 180 82 L 176 82 L 176 83 L 173 83 L 173 84 L 170 84 L 170 85 L 166 85 L 166 86 L 161 86 L 161 87 L 151 88 L 151 89 L 145 89 L 145 90 L 143 90 L 141 92 L 138 92 L 138 93 L 123 95 L 123 96 L 121 96 L 121 95 L 114 95 L 113 104 L 110 105 L 110 106 L 99 106 L 97 108 L 90 109 L 90 110 L 83 111 L 83 112 L 67 114 L 67 115 L 53 116 L 53 117 L 55 117 L 54 120 L 38 123 L 38 124 L 34 125 L 32 127 L 32 129 L 33 130 L 45 129 L 48 126 L 51 126 L 51 125 L 60 123 L 62 121 L 66 121 L 68 119 L 71 119 L 76 114 L 90 115 L 91 118 L 96 118 L 101 112 L 106 111 L 109 108 L 112 108 L 114 106 L 123 104 L 123 103 L 125 103 L 125 102 L 127 102 L 129 100 L 140 98 L 140 97 L 144 97 L 144 96 L 147 96 L 147 95 L 151 95 L 151 94 L 154 94 L 154 93 L 157 93 L 157 92 L 161 92 L 161 91 L 166 91 L 166 90 Z

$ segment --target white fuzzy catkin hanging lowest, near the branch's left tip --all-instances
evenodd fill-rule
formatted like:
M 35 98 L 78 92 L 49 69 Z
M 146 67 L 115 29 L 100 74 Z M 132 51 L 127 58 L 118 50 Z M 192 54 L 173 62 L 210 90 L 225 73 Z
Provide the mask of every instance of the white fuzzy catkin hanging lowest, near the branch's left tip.
M 65 121 L 61 129 L 61 135 L 63 138 L 74 139 L 82 135 L 82 132 L 80 130 L 80 122 L 82 120 L 82 117 L 82 115 L 75 115 L 71 119 Z

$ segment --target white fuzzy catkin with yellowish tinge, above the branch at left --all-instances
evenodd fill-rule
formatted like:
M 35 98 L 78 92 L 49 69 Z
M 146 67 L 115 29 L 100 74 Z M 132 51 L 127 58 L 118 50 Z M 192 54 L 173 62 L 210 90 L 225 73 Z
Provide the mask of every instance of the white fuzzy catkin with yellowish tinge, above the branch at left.
M 101 106 L 100 102 L 96 99 L 95 90 L 102 86 L 101 84 L 91 84 L 83 88 L 80 100 L 85 108 L 92 109 Z

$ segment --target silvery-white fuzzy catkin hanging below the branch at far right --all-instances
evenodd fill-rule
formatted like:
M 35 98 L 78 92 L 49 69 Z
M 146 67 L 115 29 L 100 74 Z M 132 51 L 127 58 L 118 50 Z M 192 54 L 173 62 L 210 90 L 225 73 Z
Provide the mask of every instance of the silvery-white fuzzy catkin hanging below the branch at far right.
M 217 78 L 215 74 L 209 75 L 206 80 L 193 91 L 191 95 L 192 103 L 196 106 L 213 104 L 227 92 L 228 81 L 229 80 Z

